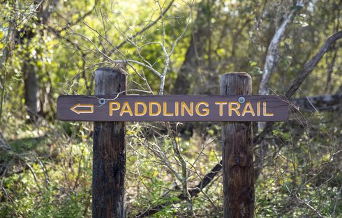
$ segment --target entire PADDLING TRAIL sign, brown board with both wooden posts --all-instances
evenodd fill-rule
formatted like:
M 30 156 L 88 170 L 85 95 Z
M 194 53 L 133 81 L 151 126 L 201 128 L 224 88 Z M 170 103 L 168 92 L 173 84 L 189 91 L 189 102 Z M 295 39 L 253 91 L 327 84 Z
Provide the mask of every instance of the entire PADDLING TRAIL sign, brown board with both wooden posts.
M 98 68 L 96 95 L 57 100 L 59 120 L 95 121 L 92 217 L 126 217 L 122 121 L 222 121 L 223 217 L 254 217 L 251 121 L 286 120 L 286 98 L 251 95 L 251 77 L 245 72 L 222 75 L 221 95 L 124 95 L 126 79 L 121 68 Z

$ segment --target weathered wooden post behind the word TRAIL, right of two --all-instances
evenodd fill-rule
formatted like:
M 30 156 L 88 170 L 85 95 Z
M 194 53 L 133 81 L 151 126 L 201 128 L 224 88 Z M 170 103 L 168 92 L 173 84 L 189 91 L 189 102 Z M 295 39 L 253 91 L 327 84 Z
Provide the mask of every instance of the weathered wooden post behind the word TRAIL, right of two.
M 222 75 L 221 95 L 251 95 L 251 76 L 245 72 Z M 244 99 L 236 102 L 243 107 Z M 223 217 L 254 217 L 252 123 L 224 122 L 222 147 Z

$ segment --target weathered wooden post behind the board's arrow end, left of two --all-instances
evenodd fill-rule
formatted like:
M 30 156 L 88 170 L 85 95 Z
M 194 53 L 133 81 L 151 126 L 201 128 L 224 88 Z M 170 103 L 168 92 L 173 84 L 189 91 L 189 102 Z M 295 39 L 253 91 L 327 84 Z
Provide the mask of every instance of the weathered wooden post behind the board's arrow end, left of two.
M 121 68 L 95 71 L 95 95 L 119 93 L 126 86 L 126 72 Z M 93 148 L 93 217 L 126 217 L 125 123 L 94 122 Z

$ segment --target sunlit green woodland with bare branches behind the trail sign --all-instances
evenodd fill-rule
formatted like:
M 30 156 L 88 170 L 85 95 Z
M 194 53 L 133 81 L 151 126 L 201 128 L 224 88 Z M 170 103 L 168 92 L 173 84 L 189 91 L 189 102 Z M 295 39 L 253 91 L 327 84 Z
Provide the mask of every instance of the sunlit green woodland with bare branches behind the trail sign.
M 91 217 L 93 124 L 56 117 L 94 94 L 219 94 L 248 72 L 290 118 L 253 123 L 256 217 L 342 217 L 341 1 L 0 1 L 0 217 Z M 127 123 L 128 217 L 222 217 L 220 123 Z M 176 146 L 174 146 L 176 145 Z M 186 201 L 185 201 L 186 199 Z

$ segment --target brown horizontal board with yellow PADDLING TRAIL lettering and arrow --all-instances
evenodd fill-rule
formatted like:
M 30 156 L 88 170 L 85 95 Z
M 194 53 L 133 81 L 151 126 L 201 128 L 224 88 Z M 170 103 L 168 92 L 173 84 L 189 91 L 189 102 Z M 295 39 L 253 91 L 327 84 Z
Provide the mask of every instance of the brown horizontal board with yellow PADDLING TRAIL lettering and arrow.
M 282 121 L 276 95 L 61 95 L 57 118 L 74 121 Z

